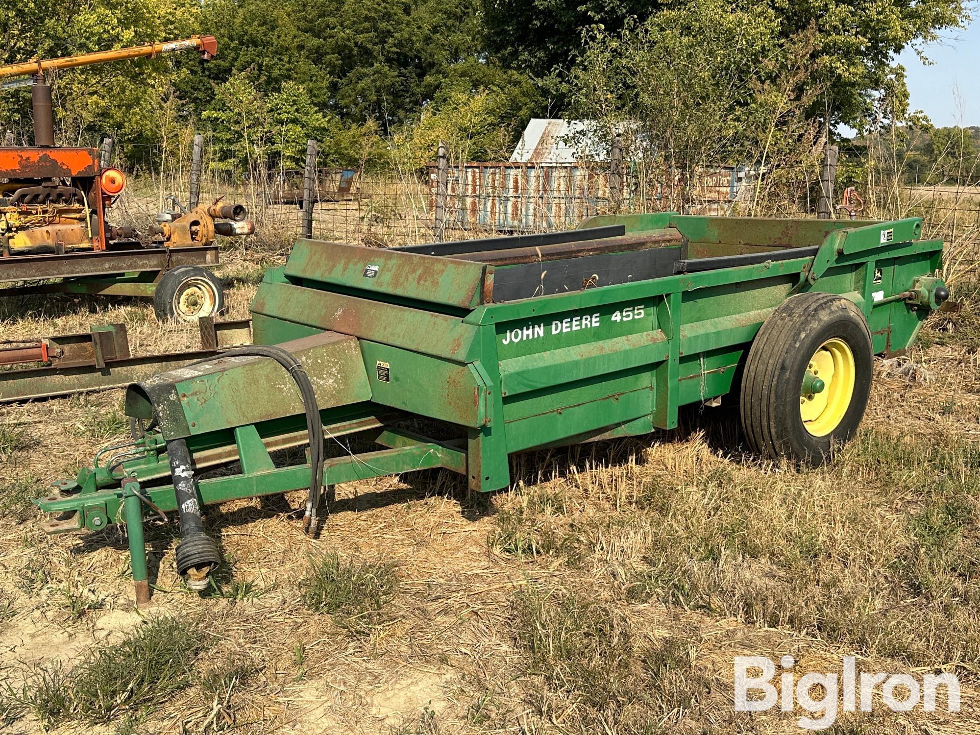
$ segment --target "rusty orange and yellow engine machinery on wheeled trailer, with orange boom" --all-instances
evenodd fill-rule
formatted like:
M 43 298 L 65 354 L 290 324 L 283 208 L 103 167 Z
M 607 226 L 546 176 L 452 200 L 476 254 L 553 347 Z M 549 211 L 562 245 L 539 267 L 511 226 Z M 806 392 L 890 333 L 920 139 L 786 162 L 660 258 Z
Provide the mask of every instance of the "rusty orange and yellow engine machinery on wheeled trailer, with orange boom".
M 241 205 L 172 211 L 140 233 L 113 226 L 106 211 L 123 193 L 125 176 L 101 167 L 94 148 L 55 146 L 51 87 L 44 73 L 174 51 L 209 60 L 214 36 L 0 66 L 3 87 L 32 84 L 34 145 L 0 148 L 0 283 L 61 279 L 26 290 L 153 296 L 161 319 L 198 319 L 221 311 L 221 283 L 203 266 L 218 263 L 216 235 L 250 234 Z M 22 78 L 10 78 L 10 77 Z M 223 221 L 222 221 L 223 220 Z M 159 302 L 159 303 L 158 303 Z

